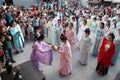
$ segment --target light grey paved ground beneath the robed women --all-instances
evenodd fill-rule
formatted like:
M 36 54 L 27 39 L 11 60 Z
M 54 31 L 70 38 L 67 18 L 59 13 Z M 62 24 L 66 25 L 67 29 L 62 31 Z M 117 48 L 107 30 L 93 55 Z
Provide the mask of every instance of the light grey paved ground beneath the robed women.
M 32 42 L 26 43 L 24 53 L 15 55 L 15 60 L 17 61 L 15 65 L 21 64 L 29 60 L 31 51 Z M 115 66 L 110 66 L 108 75 L 103 77 L 98 75 L 95 71 L 97 57 L 93 57 L 90 54 L 88 65 L 82 66 L 79 64 L 79 56 L 79 49 L 76 46 L 74 46 L 72 56 L 73 72 L 67 77 L 61 77 L 58 74 L 59 55 L 55 52 L 52 66 L 42 65 L 44 69 L 44 74 L 46 76 L 46 80 L 114 80 L 114 76 L 117 70 L 120 68 L 120 59 L 118 59 L 117 64 Z

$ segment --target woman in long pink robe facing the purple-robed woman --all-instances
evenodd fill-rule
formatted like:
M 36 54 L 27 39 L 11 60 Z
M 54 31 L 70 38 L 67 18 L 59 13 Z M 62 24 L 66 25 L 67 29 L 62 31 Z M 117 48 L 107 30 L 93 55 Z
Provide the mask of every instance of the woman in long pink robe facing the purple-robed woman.
M 62 44 L 60 47 L 54 46 L 54 49 L 58 50 L 60 54 L 60 66 L 59 66 L 59 74 L 61 76 L 67 76 L 72 72 L 72 64 L 71 64 L 71 46 L 67 40 L 67 37 L 64 34 L 61 34 L 60 40 Z

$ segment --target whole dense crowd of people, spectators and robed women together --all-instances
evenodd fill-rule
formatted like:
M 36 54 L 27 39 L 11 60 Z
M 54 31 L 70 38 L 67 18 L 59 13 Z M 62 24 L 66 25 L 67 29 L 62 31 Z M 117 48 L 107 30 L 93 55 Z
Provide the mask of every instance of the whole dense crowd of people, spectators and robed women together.
M 120 5 L 74 5 L 59 9 L 57 2 L 44 2 L 39 7 L 29 8 L 16 8 L 4 3 L 0 9 L 0 47 L 4 52 L 0 61 L 3 65 L 6 59 L 15 63 L 13 50 L 19 54 L 24 51 L 26 42 L 35 40 L 30 58 L 37 68 L 43 71 L 39 62 L 52 64 L 54 49 L 60 54 L 59 74 L 67 76 L 72 73 L 73 47 L 78 43 L 80 64 L 87 65 L 89 53 L 92 53 L 98 56 L 96 71 L 106 75 L 109 66 L 116 64 L 120 53 L 118 9 Z

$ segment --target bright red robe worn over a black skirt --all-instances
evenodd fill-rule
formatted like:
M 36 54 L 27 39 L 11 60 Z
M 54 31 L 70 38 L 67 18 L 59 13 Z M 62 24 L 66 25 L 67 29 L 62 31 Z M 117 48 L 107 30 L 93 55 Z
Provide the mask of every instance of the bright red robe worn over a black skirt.
M 108 40 L 106 38 L 103 39 L 102 45 L 100 47 L 100 52 L 98 56 L 98 64 L 101 62 L 104 65 L 104 68 L 108 68 L 111 64 L 112 58 L 115 54 L 116 45 L 115 43 L 112 43 L 110 45 L 110 48 L 105 51 L 105 45 L 108 43 Z

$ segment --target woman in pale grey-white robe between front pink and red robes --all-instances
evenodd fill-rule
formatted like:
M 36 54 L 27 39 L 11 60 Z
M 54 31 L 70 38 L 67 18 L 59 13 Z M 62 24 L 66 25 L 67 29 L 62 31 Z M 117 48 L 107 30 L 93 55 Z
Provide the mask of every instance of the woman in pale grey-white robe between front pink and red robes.
M 88 55 L 92 46 L 92 41 L 90 38 L 90 29 L 85 29 L 85 35 L 82 37 L 80 46 L 80 64 L 87 65 Z

